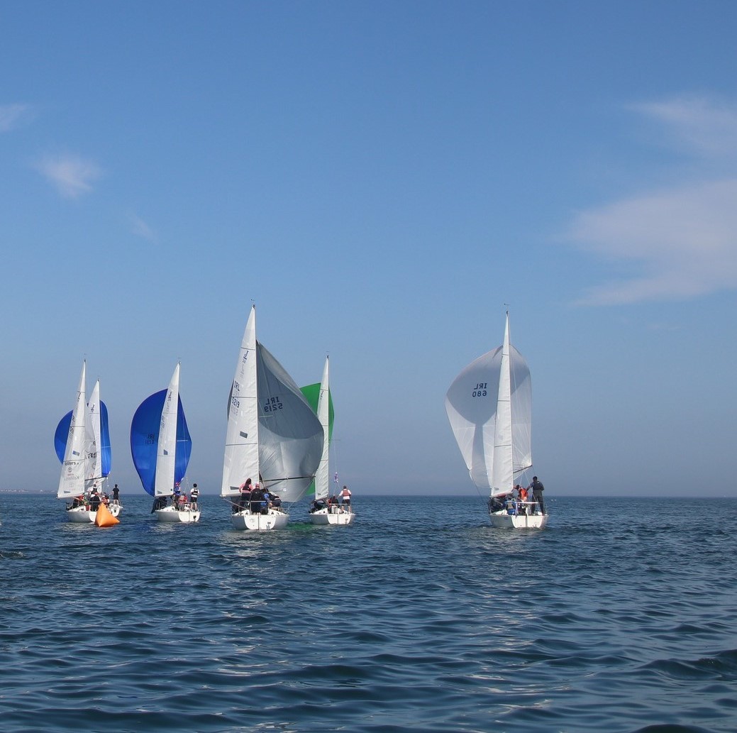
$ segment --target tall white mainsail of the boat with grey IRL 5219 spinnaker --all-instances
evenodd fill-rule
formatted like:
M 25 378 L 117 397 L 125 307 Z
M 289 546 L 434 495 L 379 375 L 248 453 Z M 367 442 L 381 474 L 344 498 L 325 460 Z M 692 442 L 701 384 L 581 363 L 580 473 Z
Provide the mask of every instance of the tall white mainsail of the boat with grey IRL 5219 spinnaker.
M 256 307 L 240 344 L 228 404 L 226 450 L 220 496 L 234 496 L 245 479 L 259 482 L 259 403 L 256 386 Z

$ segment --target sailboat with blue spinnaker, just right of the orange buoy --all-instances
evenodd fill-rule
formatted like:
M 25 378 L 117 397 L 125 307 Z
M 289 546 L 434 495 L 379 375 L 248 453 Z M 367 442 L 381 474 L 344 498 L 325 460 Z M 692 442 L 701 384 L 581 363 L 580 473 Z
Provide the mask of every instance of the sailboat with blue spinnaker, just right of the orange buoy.
M 144 490 L 155 498 L 151 511 L 158 521 L 200 520 L 199 509 L 180 501 L 179 486 L 189 464 L 192 438 L 179 397 L 179 364 L 169 388 L 147 397 L 133 414 L 130 452 Z

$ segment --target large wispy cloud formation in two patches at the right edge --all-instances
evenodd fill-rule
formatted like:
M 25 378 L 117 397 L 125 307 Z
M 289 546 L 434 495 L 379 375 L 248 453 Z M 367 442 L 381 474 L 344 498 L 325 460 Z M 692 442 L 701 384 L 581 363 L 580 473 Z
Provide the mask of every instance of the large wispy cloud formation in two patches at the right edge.
M 737 153 L 737 108 L 703 99 L 634 108 L 659 120 L 690 152 Z M 581 212 L 567 239 L 632 273 L 588 288 L 581 305 L 688 299 L 737 288 L 737 177 L 665 187 Z

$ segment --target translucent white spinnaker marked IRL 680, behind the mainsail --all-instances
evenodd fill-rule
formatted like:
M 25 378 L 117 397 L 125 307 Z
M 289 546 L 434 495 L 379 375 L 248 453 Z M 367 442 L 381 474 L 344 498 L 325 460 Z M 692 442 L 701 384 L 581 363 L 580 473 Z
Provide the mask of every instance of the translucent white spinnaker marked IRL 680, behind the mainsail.
M 448 389 L 445 410 L 472 482 L 492 494 L 497 431 L 497 399 L 503 347 L 478 357 Z M 519 476 L 532 465 L 532 387 L 525 359 L 509 344 L 509 411 L 512 471 Z M 511 490 L 511 487 L 510 487 Z

